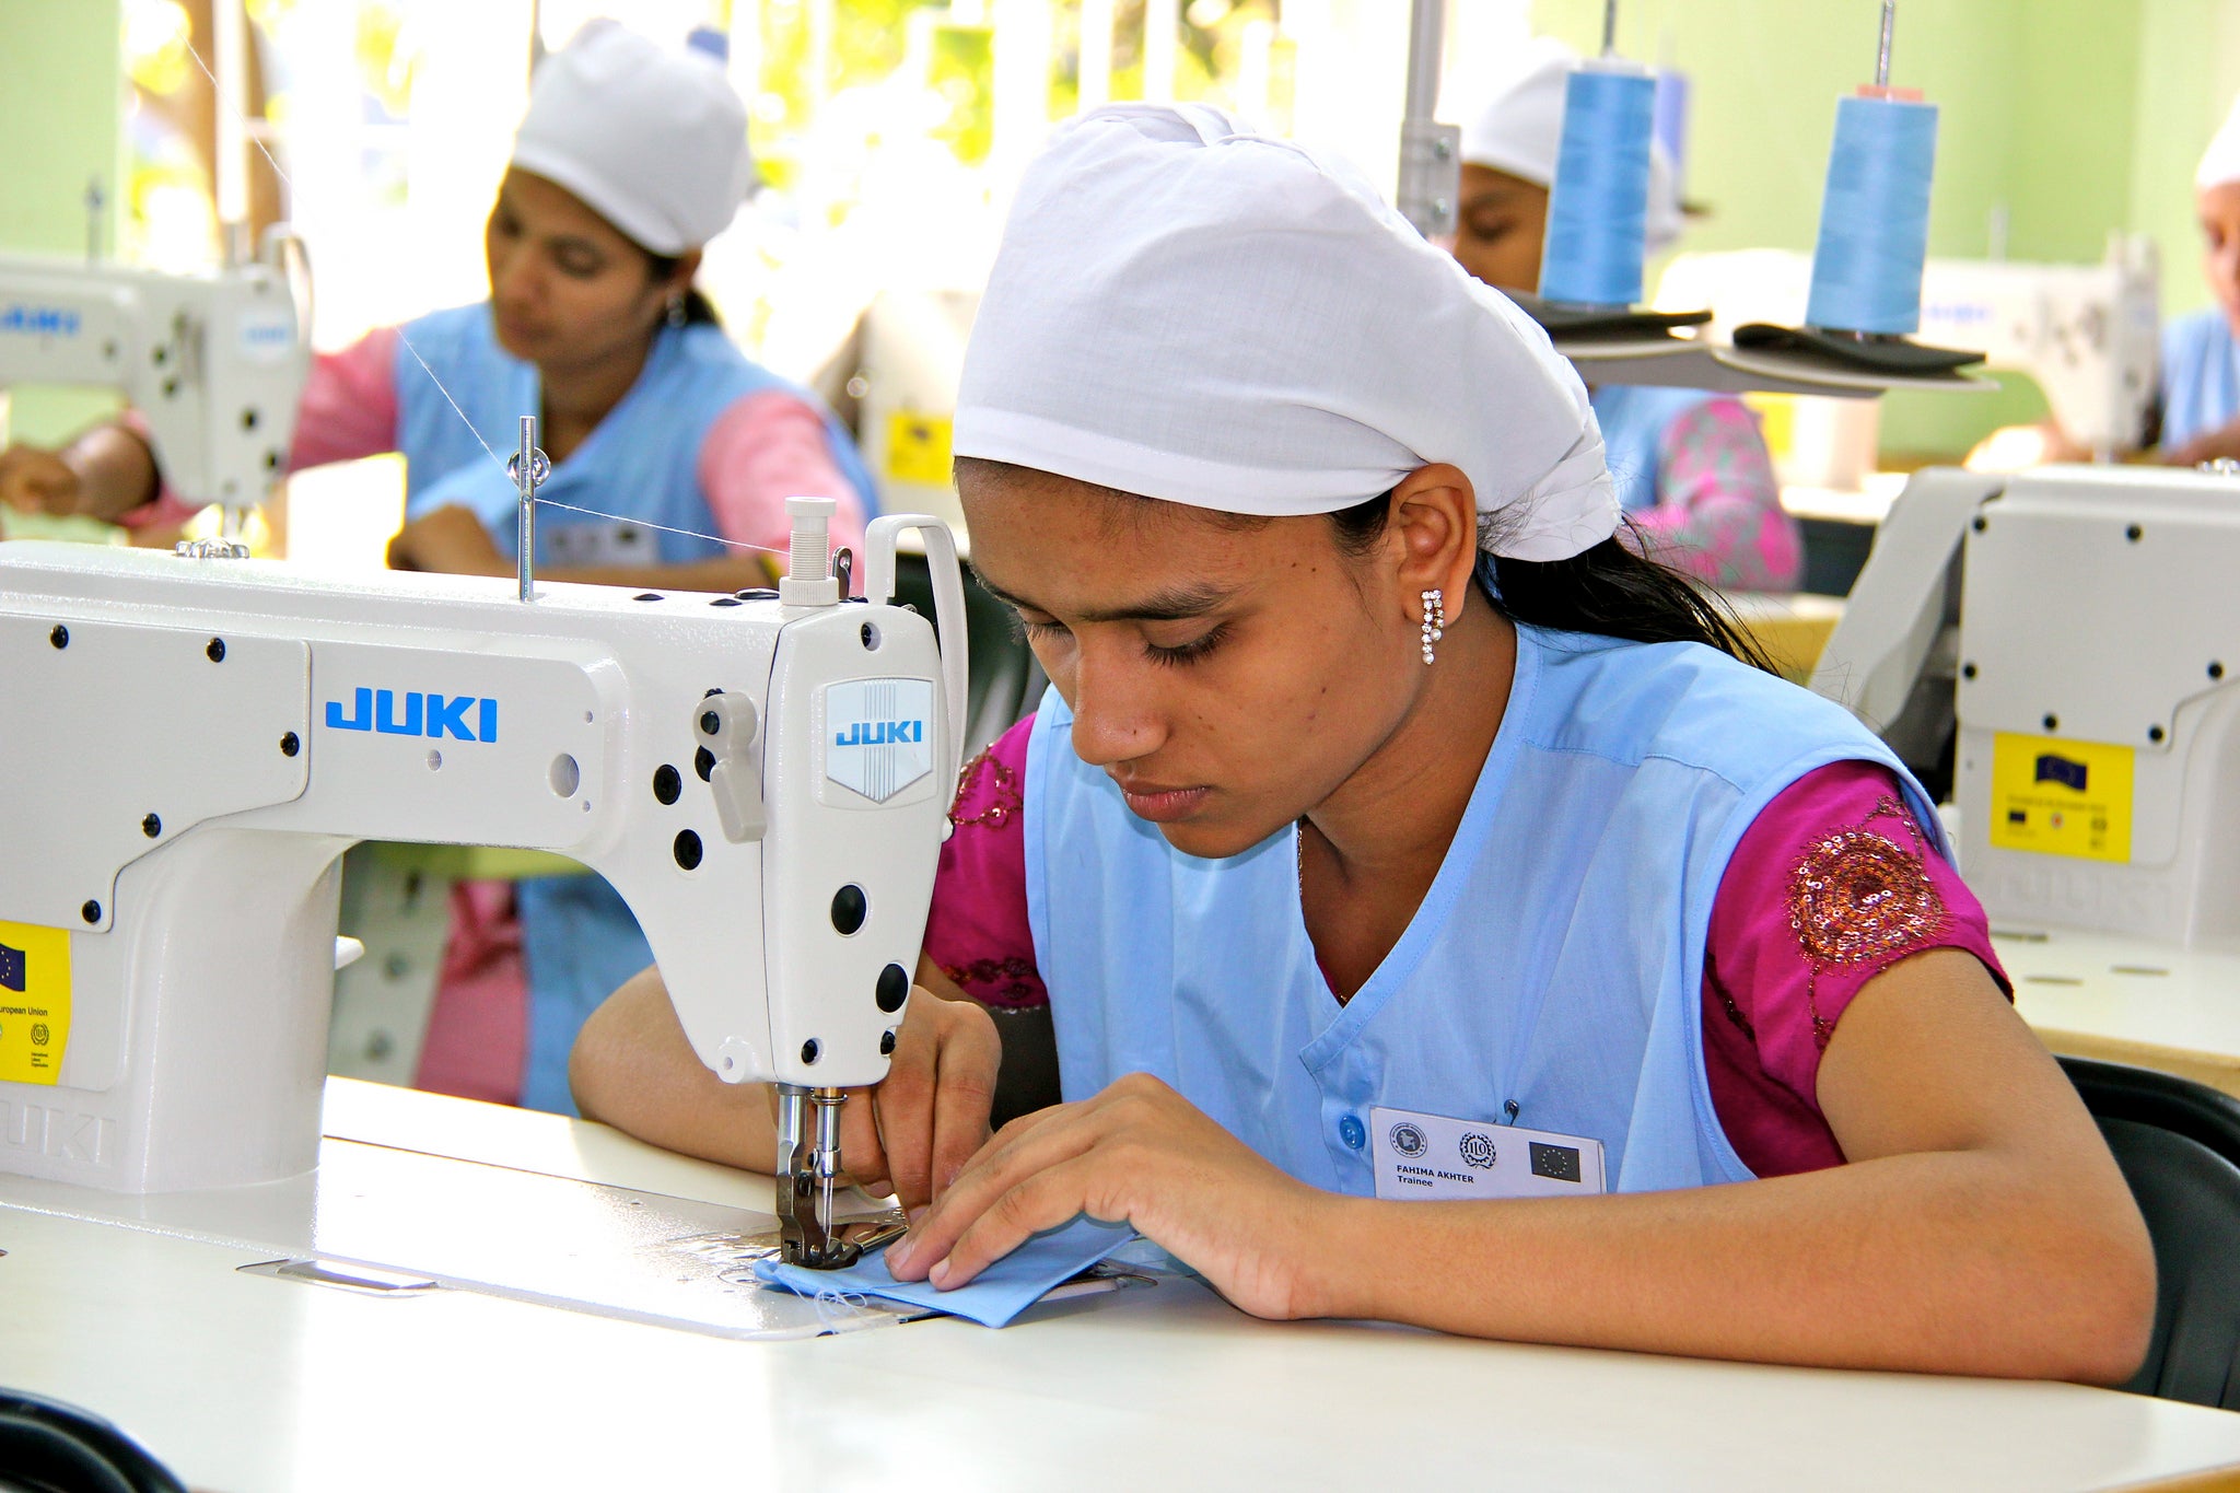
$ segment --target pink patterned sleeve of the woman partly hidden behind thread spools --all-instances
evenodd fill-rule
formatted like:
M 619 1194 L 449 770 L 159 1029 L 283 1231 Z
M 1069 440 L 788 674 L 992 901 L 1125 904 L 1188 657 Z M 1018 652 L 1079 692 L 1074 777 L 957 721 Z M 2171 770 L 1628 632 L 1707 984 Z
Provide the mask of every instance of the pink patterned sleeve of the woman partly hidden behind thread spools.
M 1803 530 L 1738 398 L 1707 398 L 1658 439 L 1658 506 L 1631 515 L 1664 564 L 1727 591 L 1794 591 Z

